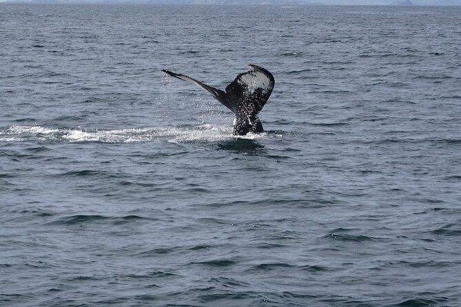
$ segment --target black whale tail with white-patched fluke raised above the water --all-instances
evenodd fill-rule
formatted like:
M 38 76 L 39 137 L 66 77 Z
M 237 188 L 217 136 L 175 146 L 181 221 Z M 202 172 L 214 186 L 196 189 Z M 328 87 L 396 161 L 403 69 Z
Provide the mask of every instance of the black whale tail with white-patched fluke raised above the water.
M 180 78 L 205 89 L 216 100 L 234 112 L 234 135 L 245 136 L 248 132 L 263 132 L 258 114 L 263 109 L 267 99 L 274 89 L 274 76 L 258 65 L 249 64 L 253 68 L 249 72 L 239 74 L 225 91 L 216 89 L 200 81 L 196 81 L 183 74 L 175 74 L 169 70 L 162 70 L 165 74 Z

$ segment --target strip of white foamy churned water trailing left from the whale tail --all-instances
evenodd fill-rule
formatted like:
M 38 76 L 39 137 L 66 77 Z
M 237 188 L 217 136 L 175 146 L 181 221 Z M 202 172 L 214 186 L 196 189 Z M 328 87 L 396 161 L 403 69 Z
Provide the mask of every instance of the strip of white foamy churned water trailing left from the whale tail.
M 198 125 L 183 127 L 141 127 L 127 129 L 85 129 L 82 127 L 10 126 L 0 128 L 0 142 L 216 142 L 243 138 L 254 140 L 267 134 L 232 136 L 232 127 Z

